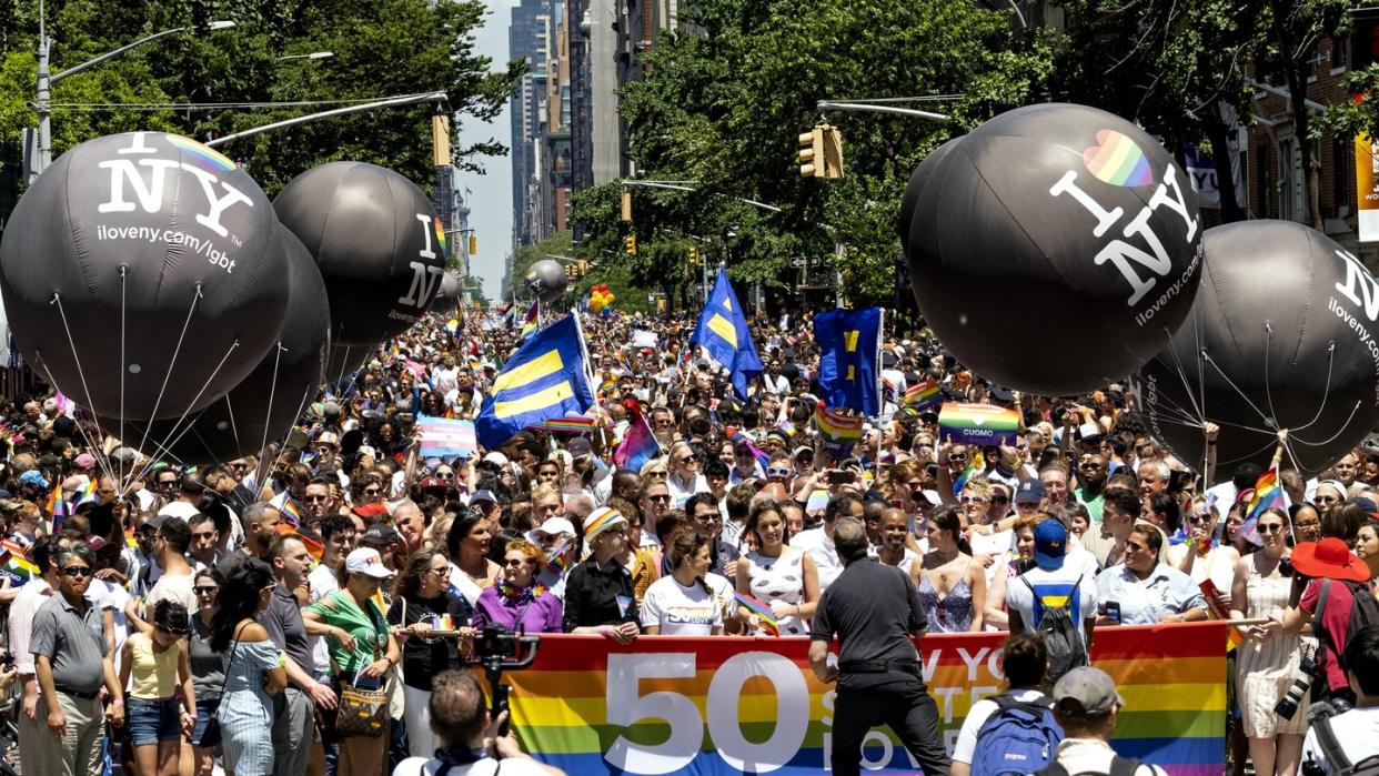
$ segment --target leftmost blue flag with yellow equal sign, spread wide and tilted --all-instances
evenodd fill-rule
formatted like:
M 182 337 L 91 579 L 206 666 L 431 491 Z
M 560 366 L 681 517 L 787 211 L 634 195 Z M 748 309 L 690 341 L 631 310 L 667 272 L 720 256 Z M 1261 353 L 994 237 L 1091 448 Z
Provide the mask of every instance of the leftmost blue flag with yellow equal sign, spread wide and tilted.
M 532 335 L 503 364 L 474 433 L 494 449 L 527 426 L 567 412 L 582 415 L 593 402 L 585 336 L 575 316 L 565 316 Z

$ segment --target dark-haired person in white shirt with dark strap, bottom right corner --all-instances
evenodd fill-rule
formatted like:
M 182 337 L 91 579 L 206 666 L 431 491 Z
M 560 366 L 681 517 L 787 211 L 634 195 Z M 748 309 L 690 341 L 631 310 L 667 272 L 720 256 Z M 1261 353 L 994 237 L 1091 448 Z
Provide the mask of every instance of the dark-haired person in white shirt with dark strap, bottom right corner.
M 1379 627 L 1350 634 L 1345 659 L 1356 707 L 1313 724 L 1302 744 L 1303 772 L 1309 761 L 1322 773 L 1340 773 L 1379 758 Z

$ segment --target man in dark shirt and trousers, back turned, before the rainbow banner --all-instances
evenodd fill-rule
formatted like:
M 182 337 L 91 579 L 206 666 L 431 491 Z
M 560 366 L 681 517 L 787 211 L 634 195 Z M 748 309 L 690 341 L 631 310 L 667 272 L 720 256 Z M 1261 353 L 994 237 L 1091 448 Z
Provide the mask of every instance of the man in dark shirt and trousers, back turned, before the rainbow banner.
M 938 704 L 924 686 L 910 641 L 928 629 L 924 605 L 907 576 L 867 557 L 862 521 L 840 520 L 833 543 L 845 568 L 819 598 L 809 631 L 814 675 L 838 684 L 829 758 L 833 773 L 860 773 L 863 736 L 873 725 L 889 725 L 925 776 L 947 776 Z M 834 635 L 838 662 L 830 666 Z

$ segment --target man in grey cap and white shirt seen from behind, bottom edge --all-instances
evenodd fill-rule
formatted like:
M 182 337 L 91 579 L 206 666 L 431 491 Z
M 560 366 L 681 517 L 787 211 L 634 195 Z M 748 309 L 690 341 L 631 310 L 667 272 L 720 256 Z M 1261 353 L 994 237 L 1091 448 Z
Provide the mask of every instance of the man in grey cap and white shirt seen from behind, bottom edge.
M 1054 685 L 1054 718 L 1063 728 L 1063 742 L 1054 751 L 1066 773 L 1117 773 L 1121 759 L 1111 748 L 1116 718 L 1125 706 L 1116 682 L 1100 668 L 1073 668 Z M 1124 761 L 1121 761 L 1124 762 Z M 1165 776 L 1157 765 L 1140 764 L 1134 776 Z

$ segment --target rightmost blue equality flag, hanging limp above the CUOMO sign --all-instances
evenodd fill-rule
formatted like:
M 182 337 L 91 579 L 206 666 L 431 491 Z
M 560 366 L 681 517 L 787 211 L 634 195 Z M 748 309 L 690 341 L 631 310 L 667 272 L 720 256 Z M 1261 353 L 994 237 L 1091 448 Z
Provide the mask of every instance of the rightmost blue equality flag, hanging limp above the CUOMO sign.
M 814 317 L 819 396 L 830 408 L 881 412 L 881 307 L 829 310 Z

